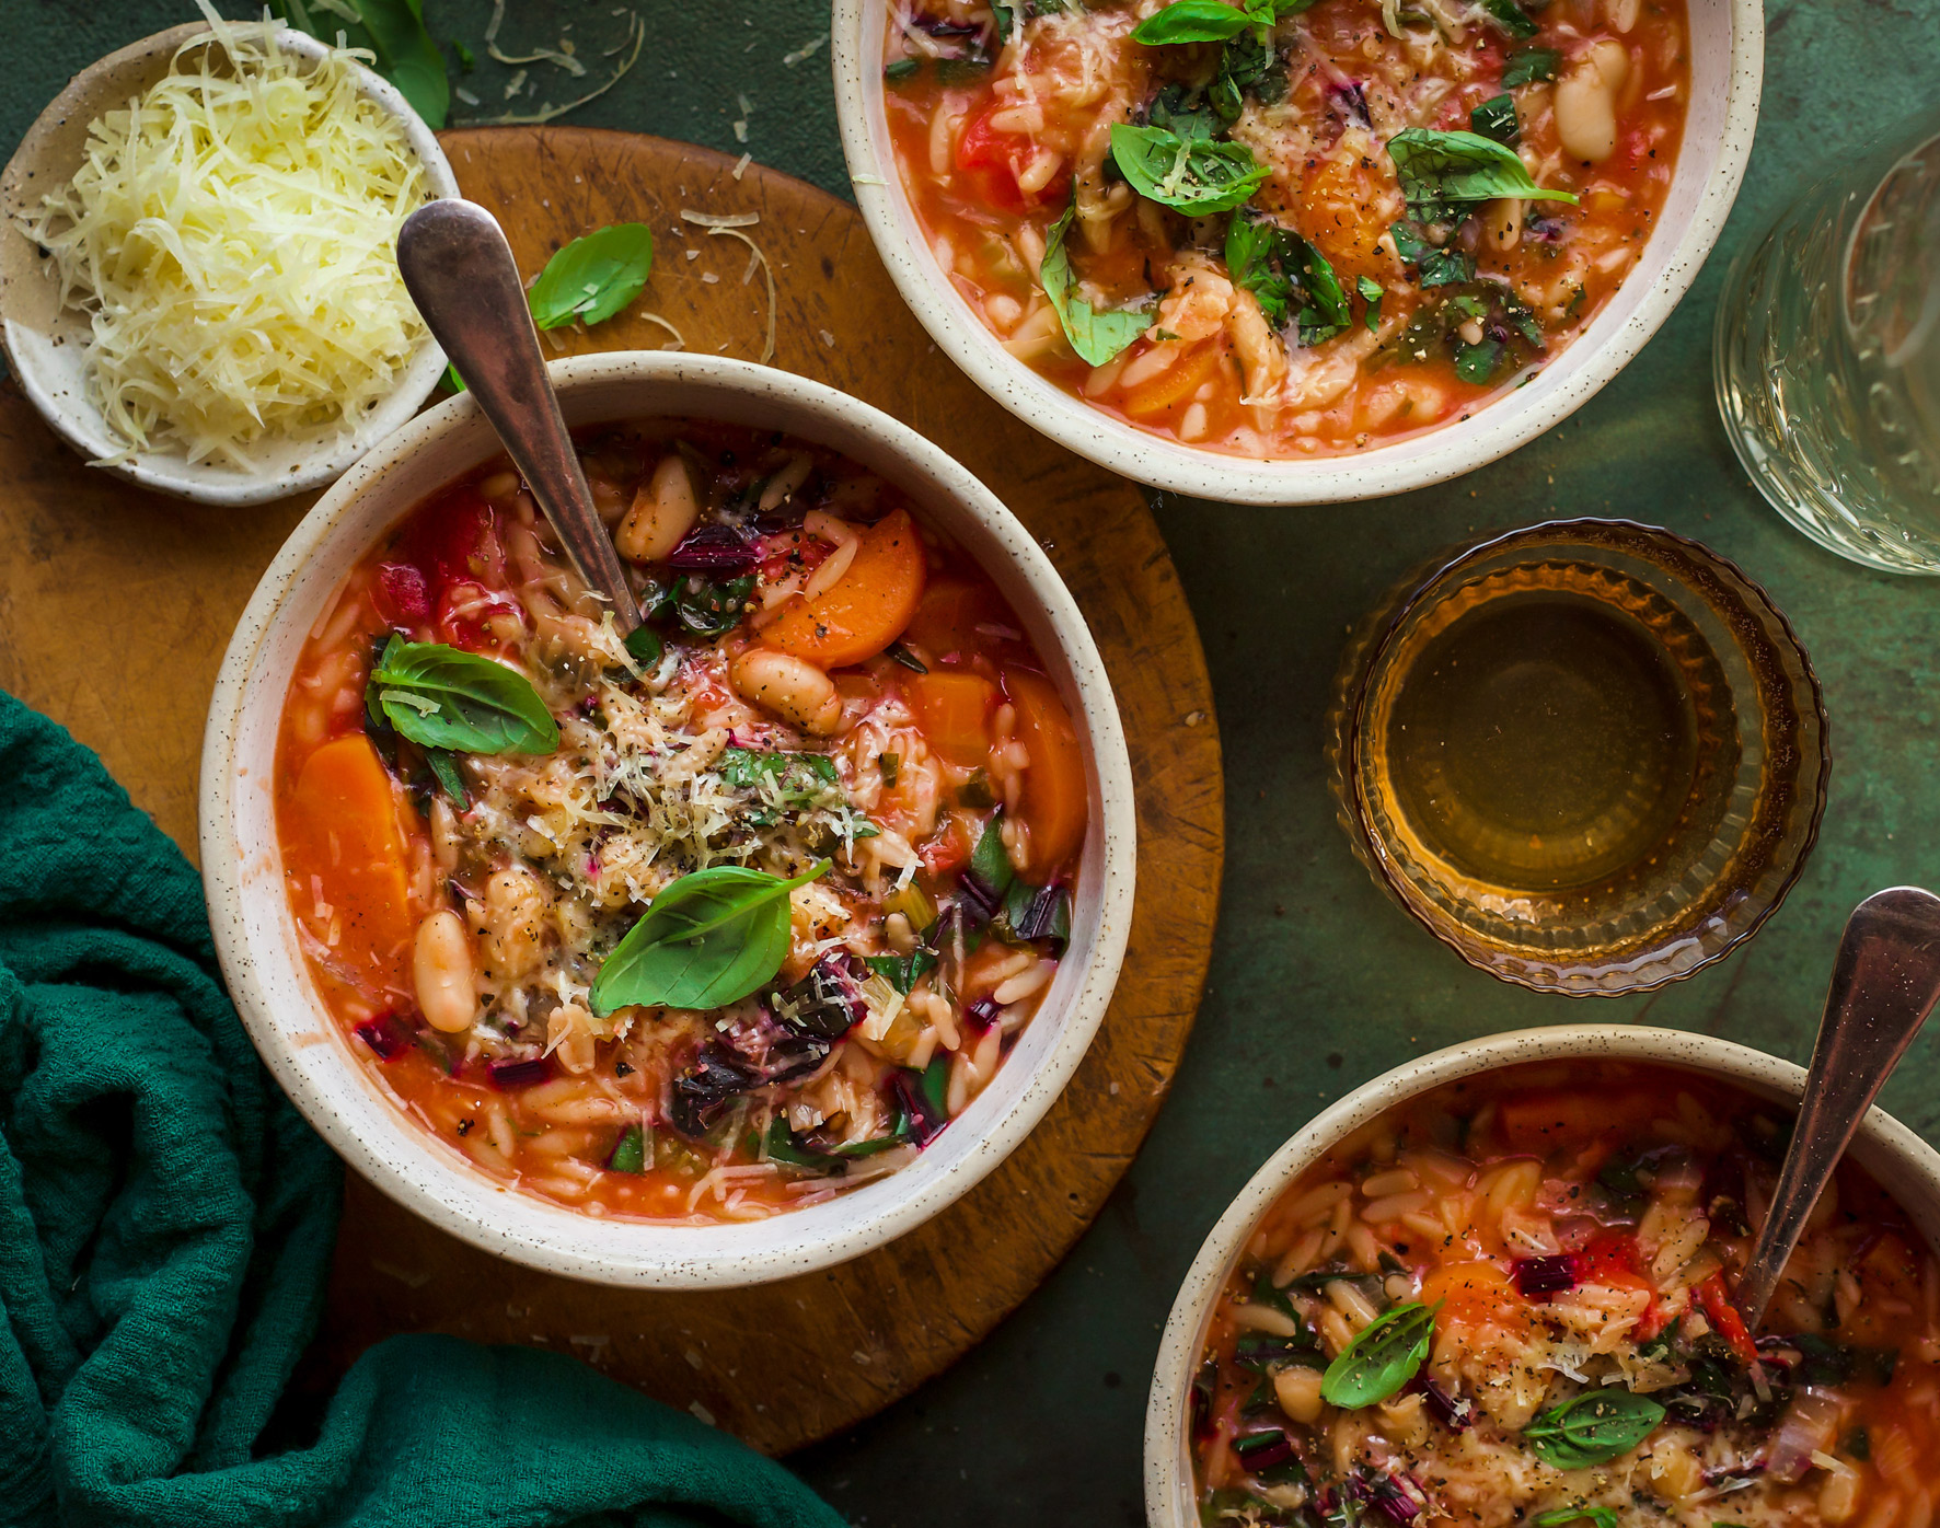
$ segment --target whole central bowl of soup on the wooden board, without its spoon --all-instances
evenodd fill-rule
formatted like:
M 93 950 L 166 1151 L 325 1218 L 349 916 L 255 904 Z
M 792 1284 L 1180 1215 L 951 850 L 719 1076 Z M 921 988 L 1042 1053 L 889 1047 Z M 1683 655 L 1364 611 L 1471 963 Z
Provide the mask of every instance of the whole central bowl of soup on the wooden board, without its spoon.
M 805 1272 L 953 1202 L 1083 1059 L 1117 712 L 1042 549 L 889 417 L 716 357 L 553 378 L 640 628 L 468 398 L 384 442 L 217 683 L 223 970 L 440 1227 L 615 1284 Z

